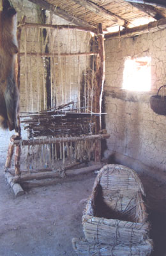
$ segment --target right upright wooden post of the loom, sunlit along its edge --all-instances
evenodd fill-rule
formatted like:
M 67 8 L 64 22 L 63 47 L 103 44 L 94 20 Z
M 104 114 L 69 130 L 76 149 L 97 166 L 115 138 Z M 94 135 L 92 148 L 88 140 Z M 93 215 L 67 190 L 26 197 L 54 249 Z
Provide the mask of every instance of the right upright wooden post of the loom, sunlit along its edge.
M 98 51 L 99 51 L 99 60 L 98 60 L 98 88 L 96 88 L 95 95 L 95 112 L 102 113 L 102 96 L 103 96 L 103 84 L 105 81 L 105 49 L 104 49 L 104 35 L 102 24 L 98 24 Z M 102 118 L 96 116 L 96 134 L 102 130 Z M 95 162 L 101 161 L 101 141 L 96 141 L 95 149 Z

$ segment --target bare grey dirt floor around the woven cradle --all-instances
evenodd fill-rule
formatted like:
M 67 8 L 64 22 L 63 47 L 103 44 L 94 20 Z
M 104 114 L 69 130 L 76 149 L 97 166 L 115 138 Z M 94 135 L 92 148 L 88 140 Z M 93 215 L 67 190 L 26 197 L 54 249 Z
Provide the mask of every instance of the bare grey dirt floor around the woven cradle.
M 15 198 L 0 177 L 0 256 L 74 256 L 72 237 L 84 237 L 82 210 L 96 175 L 82 175 L 45 188 L 28 189 Z M 154 240 L 153 256 L 166 256 L 166 184 L 140 175 Z M 125 255 L 124 255 L 125 256 Z

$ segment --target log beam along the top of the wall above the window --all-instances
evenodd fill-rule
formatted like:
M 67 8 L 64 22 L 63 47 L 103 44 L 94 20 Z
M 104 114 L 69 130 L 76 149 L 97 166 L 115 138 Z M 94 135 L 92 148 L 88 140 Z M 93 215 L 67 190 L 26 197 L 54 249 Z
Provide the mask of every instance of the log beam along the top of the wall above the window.
M 165 28 L 166 28 L 166 19 L 160 19 L 158 21 L 149 22 L 148 24 L 142 25 L 139 27 L 123 29 L 120 35 L 119 35 L 119 32 L 108 33 L 105 35 L 105 38 L 117 39 L 117 38 L 133 37 L 133 36 L 138 36 L 138 35 L 149 33 L 149 32 L 153 33 Z

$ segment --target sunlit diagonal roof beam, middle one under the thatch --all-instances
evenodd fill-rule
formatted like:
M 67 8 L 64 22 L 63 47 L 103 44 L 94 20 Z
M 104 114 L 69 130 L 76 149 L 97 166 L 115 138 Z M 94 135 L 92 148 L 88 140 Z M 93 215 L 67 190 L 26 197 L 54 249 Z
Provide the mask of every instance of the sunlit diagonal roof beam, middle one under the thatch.
M 100 15 L 104 19 L 111 20 L 120 26 L 126 27 L 126 20 L 117 16 L 116 14 L 105 10 L 103 7 L 98 6 L 97 4 L 92 3 L 89 0 L 72 0 L 73 2 L 79 4 L 80 6 L 84 6 L 87 10 L 96 13 L 96 15 Z

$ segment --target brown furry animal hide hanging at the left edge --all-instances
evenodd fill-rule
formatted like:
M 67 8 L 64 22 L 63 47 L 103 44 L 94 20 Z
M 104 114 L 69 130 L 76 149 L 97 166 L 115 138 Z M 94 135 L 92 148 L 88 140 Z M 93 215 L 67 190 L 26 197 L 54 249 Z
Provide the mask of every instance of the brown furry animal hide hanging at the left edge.
M 1 0 L 0 3 L 0 126 L 18 131 L 19 90 L 15 81 L 17 12 L 10 1 Z

